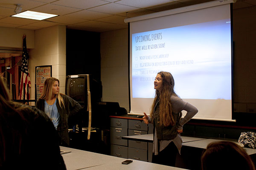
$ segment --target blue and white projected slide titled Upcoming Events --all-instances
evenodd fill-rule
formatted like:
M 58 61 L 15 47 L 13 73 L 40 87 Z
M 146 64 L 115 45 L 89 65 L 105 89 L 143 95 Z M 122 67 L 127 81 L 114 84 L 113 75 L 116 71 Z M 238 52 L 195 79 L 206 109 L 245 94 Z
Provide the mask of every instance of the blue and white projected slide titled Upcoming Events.
M 169 71 L 182 99 L 231 100 L 230 19 L 132 34 L 132 98 L 154 98 Z

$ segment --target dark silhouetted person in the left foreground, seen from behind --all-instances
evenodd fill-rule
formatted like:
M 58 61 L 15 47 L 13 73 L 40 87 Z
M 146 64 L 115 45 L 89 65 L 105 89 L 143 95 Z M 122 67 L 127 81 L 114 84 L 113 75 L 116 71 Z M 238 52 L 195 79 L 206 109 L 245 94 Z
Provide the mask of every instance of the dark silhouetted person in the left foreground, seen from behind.
M 12 102 L 0 77 L 0 169 L 65 170 L 58 133 L 45 113 Z

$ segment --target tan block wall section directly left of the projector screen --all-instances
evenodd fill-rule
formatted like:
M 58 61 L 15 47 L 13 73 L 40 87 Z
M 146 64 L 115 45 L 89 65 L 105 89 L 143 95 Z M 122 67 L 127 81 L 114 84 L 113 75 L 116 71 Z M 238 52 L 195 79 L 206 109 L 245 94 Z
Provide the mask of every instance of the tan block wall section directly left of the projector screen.
M 100 36 L 102 101 L 119 102 L 129 111 L 128 29 Z

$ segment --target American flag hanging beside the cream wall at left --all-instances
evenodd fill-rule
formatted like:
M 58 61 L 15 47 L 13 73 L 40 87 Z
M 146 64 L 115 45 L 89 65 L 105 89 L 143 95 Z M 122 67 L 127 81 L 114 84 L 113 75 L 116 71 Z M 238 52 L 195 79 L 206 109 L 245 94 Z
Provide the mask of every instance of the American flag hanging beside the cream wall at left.
M 27 99 L 27 85 L 31 88 L 31 82 L 29 77 L 28 60 L 29 53 L 26 49 L 26 35 L 23 37 L 23 51 L 22 51 L 22 65 L 21 65 L 21 78 L 20 78 L 20 95 L 19 99 L 23 99 L 23 83 L 25 83 L 25 99 Z

